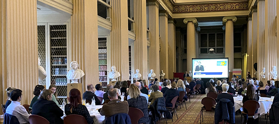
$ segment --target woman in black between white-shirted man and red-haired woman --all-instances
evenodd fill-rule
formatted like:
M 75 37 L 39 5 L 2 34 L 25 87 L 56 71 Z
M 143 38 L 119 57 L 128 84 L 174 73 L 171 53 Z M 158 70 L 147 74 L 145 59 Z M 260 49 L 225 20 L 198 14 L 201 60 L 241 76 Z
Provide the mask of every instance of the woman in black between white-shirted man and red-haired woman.
M 32 106 L 32 114 L 46 118 L 50 124 L 63 124 L 63 110 L 52 99 L 52 91 L 44 89 Z

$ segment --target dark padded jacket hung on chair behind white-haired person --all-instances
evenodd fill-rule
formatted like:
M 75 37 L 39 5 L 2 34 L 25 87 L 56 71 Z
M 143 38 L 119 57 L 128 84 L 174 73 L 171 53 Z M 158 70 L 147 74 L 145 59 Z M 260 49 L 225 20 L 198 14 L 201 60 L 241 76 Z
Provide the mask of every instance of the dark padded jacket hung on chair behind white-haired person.
M 235 124 L 234 104 L 231 100 L 223 98 L 218 101 L 215 108 L 215 124 L 227 120 L 230 124 Z

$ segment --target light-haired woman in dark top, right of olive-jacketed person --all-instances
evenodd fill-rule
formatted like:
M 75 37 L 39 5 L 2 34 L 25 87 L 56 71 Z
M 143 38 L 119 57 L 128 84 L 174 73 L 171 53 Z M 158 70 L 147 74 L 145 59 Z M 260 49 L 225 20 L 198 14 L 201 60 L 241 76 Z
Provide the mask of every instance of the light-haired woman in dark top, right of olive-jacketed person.
M 166 98 L 166 107 L 172 107 L 171 100 L 175 98 L 175 96 L 179 96 L 179 91 L 175 89 L 175 82 L 171 83 L 171 88 L 167 89 L 164 97 Z

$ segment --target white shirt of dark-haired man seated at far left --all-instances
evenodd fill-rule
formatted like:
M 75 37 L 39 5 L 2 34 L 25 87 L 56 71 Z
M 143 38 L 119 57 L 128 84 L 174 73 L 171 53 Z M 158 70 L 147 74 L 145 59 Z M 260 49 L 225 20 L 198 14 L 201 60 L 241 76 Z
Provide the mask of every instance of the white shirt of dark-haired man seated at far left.
M 6 113 L 14 115 L 20 124 L 26 124 L 29 122 L 29 114 L 26 109 L 20 105 L 20 102 L 11 101 L 11 104 L 7 107 Z

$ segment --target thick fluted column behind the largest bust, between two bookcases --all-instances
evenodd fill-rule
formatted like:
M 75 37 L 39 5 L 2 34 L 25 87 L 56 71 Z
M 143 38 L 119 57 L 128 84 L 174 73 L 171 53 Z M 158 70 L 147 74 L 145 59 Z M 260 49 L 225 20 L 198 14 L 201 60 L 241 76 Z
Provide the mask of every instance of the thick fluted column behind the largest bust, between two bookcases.
M 73 0 L 71 16 L 72 60 L 77 61 L 85 75 L 80 79 L 83 90 L 87 84 L 99 83 L 97 1 Z

